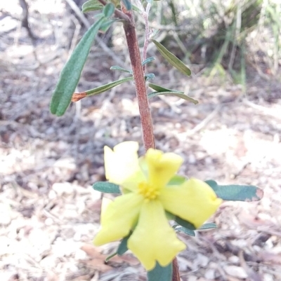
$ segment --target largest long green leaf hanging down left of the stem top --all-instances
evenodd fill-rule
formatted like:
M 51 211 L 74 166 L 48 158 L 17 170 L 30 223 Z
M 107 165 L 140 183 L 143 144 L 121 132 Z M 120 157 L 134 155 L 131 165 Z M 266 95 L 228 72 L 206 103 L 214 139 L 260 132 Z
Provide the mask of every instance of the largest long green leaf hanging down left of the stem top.
M 51 100 L 50 109 L 52 114 L 63 116 L 67 107 L 70 105 L 72 95 L 79 82 L 81 71 L 89 55 L 91 45 L 103 21 L 104 18 L 100 18 L 100 20 L 89 28 L 74 49 L 65 67 L 63 67 Z

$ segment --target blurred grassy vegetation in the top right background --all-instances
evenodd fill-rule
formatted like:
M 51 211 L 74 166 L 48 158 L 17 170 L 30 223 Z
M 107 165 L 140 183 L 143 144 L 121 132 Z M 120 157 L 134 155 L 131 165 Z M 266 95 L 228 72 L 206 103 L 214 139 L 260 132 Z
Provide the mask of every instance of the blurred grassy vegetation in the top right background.
M 245 85 L 246 66 L 263 77 L 281 64 L 281 6 L 278 0 L 155 1 L 152 27 L 178 57 L 202 64 L 213 76 L 231 74 Z

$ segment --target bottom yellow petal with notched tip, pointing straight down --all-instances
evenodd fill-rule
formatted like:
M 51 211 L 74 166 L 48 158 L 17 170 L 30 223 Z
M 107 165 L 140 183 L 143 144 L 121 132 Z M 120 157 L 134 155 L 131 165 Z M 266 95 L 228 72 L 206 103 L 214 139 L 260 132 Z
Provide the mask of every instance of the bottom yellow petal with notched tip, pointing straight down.
M 159 200 L 143 203 L 138 225 L 128 240 L 128 248 L 143 263 L 146 270 L 155 267 L 156 261 L 167 266 L 185 245 L 178 240 L 169 226 Z

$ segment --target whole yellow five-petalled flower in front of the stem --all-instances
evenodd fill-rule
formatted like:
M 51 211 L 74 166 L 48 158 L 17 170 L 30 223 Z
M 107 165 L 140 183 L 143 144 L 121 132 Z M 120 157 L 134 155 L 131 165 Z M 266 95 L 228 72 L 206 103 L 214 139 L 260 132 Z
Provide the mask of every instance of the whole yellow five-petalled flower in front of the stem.
M 138 143 L 122 142 L 113 151 L 105 146 L 105 175 L 122 186 L 117 197 L 102 214 L 101 230 L 95 245 L 122 239 L 133 231 L 128 248 L 152 270 L 156 261 L 167 266 L 185 245 L 169 225 L 170 212 L 199 228 L 221 204 L 204 181 L 189 179 L 180 185 L 167 185 L 183 163 L 175 153 L 148 149 L 138 159 Z

